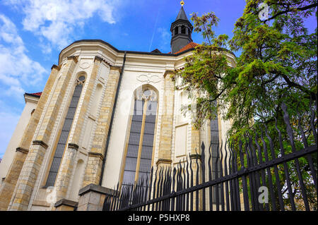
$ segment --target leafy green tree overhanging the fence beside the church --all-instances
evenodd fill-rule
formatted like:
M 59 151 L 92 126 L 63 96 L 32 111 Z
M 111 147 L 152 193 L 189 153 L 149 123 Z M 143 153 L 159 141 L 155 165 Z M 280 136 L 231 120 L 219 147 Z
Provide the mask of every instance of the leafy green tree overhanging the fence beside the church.
M 260 16 L 261 3 L 269 7 L 267 18 Z M 193 13 L 194 31 L 201 32 L 205 42 L 186 58 L 184 70 L 174 78 L 182 78 L 177 88 L 187 90 L 189 97 L 195 99 L 194 126 L 200 128 L 206 119 L 213 118 L 218 108 L 225 111 L 223 119 L 232 121 L 230 140 L 241 138 L 250 130 L 261 132 L 259 128 L 264 124 L 269 133 L 275 134 L 276 124 L 285 130 L 281 109 L 284 102 L 290 123 L 297 127 L 300 121 L 307 141 L 313 143 L 308 121 L 310 102 L 317 118 L 317 28 L 309 33 L 304 20 L 314 15 L 317 18 L 317 0 L 247 0 L 229 39 L 228 35 L 215 35 L 213 26 L 218 25 L 219 19 L 214 13 L 203 16 Z M 228 65 L 225 48 L 242 51 L 236 67 Z M 189 104 L 184 112 L 193 107 Z M 317 119 L 314 127 L 317 130 Z M 300 138 L 299 133 L 296 138 Z M 273 141 L 278 143 L 277 135 Z M 283 142 L 287 152 L 291 151 L 287 135 Z M 303 147 L 301 142 L 296 145 Z M 278 154 L 279 147 L 276 149 Z M 317 171 L 317 154 L 314 162 Z M 305 164 L 305 159 L 300 161 L 304 170 Z M 282 186 L 283 175 L 281 171 Z M 297 176 L 292 181 L 296 187 Z M 312 185 L 310 178 L 307 185 Z M 317 194 L 314 196 L 317 207 Z

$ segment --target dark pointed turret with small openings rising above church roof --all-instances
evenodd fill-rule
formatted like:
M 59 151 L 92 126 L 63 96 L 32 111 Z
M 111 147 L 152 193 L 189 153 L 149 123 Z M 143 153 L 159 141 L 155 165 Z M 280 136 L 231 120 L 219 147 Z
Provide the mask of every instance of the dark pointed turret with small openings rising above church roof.
M 192 42 L 191 34 L 193 26 L 189 22 L 187 15 L 184 12 L 184 1 L 181 1 L 180 4 L 181 8 L 178 13 L 178 16 L 175 22 L 173 22 L 170 27 L 170 31 L 172 32 L 172 38 L 170 42 L 172 54 L 175 54 L 175 52 L 182 49 L 182 47 Z

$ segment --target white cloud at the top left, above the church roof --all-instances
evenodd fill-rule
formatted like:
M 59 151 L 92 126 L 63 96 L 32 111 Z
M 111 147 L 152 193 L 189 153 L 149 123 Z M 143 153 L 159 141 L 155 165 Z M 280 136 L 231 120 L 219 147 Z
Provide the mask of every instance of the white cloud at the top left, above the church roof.
M 53 47 L 62 49 L 73 40 L 74 31 L 83 27 L 95 14 L 106 23 L 115 23 L 114 9 L 119 0 L 7 0 L 6 4 L 22 9 L 23 28 L 45 37 Z M 45 53 L 48 44 L 43 49 Z

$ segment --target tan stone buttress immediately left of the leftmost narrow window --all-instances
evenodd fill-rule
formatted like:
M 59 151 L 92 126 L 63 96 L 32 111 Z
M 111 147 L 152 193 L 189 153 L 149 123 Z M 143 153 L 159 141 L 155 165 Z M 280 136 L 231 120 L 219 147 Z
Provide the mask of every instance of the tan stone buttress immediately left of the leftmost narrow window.
M 65 95 L 65 87 L 69 84 L 76 62 L 77 59 L 75 57 L 68 57 L 68 61 L 66 61 L 66 64 L 61 68 L 61 77 L 58 80 L 57 87 L 48 104 L 42 124 L 39 124 L 39 131 L 35 134 L 35 140 L 30 147 L 28 156 L 25 159 L 25 164 L 23 164 L 10 207 L 8 207 L 9 210 L 28 209 L 35 181 L 37 180 L 37 175 L 39 174 L 40 166 L 45 156 L 47 143 L 49 142 L 59 107 Z

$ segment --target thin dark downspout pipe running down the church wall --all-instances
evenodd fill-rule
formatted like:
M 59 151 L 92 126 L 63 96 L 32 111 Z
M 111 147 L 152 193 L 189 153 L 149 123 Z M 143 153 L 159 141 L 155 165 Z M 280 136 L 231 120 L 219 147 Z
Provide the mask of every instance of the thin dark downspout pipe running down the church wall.
M 120 85 L 122 83 L 122 75 L 124 73 L 125 62 L 126 62 L 126 51 L 124 52 L 124 61 L 122 63 L 122 71 L 120 72 L 120 75 L 119 75 L 117 91 L 116 91 L 116 95 L 115 95 L 115 99 L 114 99 L 114 108 L 112 109 L 112 117 L 110 118 L 110 129 L 108 130 L 108 135 L 107 135 L 107 140 L 106 140 L 106 145 L 105 145 L 104 158 L 102 159 L 102 174 L 100 174 L 100 186 L 102 186 L 102 178 L 104 176 L 106 155 L 107 155 L 108 145 L 110 145 L 110 135 L 111 135 L 111 132 L 112 132 L 112 125 L 113 125 L 113 121 L 114 121 L 114 113 L 116 111 L 117 99 L 118 99 L 118 95 L 119 95 Z

